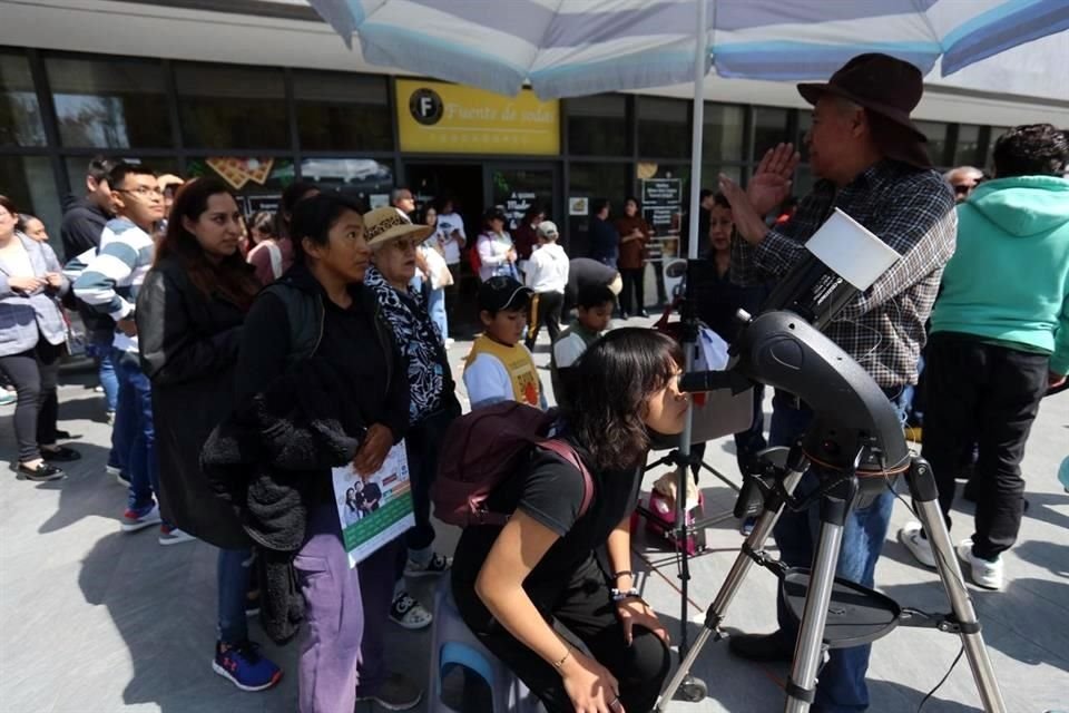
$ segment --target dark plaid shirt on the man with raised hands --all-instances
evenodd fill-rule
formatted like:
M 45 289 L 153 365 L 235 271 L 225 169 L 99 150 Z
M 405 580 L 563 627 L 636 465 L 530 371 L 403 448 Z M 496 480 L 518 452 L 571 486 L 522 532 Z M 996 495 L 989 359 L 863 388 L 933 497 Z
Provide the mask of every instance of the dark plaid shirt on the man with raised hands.
M 805 255 L 803 243 L 840 208 L 902 258 L 856 295 L 824 330 L 883 388 L 916 383 L 924 323 L 943 266 L 954 253 L 958 215 L 950 186 L 934 170 L 883 160 L 836 191 L 821 180 L 794 217 L 751 246 L 732 245 L 732 280 L 753 285 L 783 276 Z

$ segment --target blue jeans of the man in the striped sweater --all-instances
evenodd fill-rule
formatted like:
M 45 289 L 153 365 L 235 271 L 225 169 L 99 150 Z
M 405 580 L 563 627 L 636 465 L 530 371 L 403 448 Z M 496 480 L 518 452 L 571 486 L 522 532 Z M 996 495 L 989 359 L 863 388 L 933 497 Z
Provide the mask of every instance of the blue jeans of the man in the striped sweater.
M 130 478 L 127 507 L 151 507 L 159 492 L 159 465 L 156 461 L 156 430 L 153 427 L 153 388 L 141 371 L 137 354 L 115 350 L 115 373 L 119 380 L 119 400 L 115 410 L 111 447 L 118 451 Z

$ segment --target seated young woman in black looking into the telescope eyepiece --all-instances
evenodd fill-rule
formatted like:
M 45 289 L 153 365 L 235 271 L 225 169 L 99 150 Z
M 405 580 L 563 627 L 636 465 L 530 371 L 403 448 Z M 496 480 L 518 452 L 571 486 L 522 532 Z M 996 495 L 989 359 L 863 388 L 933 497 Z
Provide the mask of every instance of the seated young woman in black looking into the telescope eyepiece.
M 461 616 L 550 713 L 646 713 L 668 673 L 668 634 L 634 588 L 629 519 L 650 432 L 683 431 L 681 363 L 676 342 L 653 330 L 615 330 L 592 344 L 558 431 L 590 471 L 587 511 L 579 470 L 537 450 L 488 500 L 514 512 L 509 522 L 470 526 L 457 546 Z

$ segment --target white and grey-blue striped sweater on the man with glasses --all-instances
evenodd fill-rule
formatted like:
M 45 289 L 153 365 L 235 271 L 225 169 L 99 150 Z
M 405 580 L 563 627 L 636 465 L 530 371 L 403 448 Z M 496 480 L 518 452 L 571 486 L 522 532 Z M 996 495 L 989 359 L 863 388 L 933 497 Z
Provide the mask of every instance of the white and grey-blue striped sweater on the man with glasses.
M 133 316 L 137 292 L 155 254 L 156 244 L 148 233 L 126 218 L 108 221 L 100 234 L 100 252 L 75 283 L 75 295 L 116 322 Z M 137 338 L 116 332 L 114 345 L 136 353 Z

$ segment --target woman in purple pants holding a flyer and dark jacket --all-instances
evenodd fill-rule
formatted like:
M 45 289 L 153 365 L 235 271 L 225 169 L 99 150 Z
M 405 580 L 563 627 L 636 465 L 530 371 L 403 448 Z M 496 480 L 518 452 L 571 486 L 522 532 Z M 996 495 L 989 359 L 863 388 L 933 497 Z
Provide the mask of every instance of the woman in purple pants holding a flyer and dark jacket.
M 295 394 L 304 420 L 322 418 L 324 428 L 330 427 L 327 420 L 340 421 L 345 436 L 359 442 L 351 455 L 353 469 L 370 477 L 404 436 L 409 380 L 389 325 L 362 284 L 371 257 L 364 219 L 345 198 L 317 195 L 296 204 L 291 235 L 293 267 L 261 292 L 245 322 L 238 403 L 248 412 L 262 412 L 278 398 L 273 384 L 291 382 L 286 394 Z M 305 374 L 320 381 L 304 390 Z M 302 398 L 303 391 L 314 393 L 323 382 L 337 384 L 336 389 Z M 340 404 L 340 417 L 325 410 L 332 402 Z M 317 408 L 324 412 L 315 413 Z M 308 624 L 300 663 L 300 710 L 351 713 L 357 700 L 374 700 L 393 711 L 414 706 L 422 693 L 400 674 L 388 674 L 383 660 L 400 540 L 351 569 L 331 469 L 301 472 L 301 484 L 295 485 L 284 466 L 274 470 L 271 466 L 265 472 L 277 473 L 278 489 L 306 488 L 301 504 L 307 506 L 278 516 L 306 518 L 282 522 L 303 526 L 305 534 L 293 563 Z M 344 496 L 343 491 L 343 507 Z

